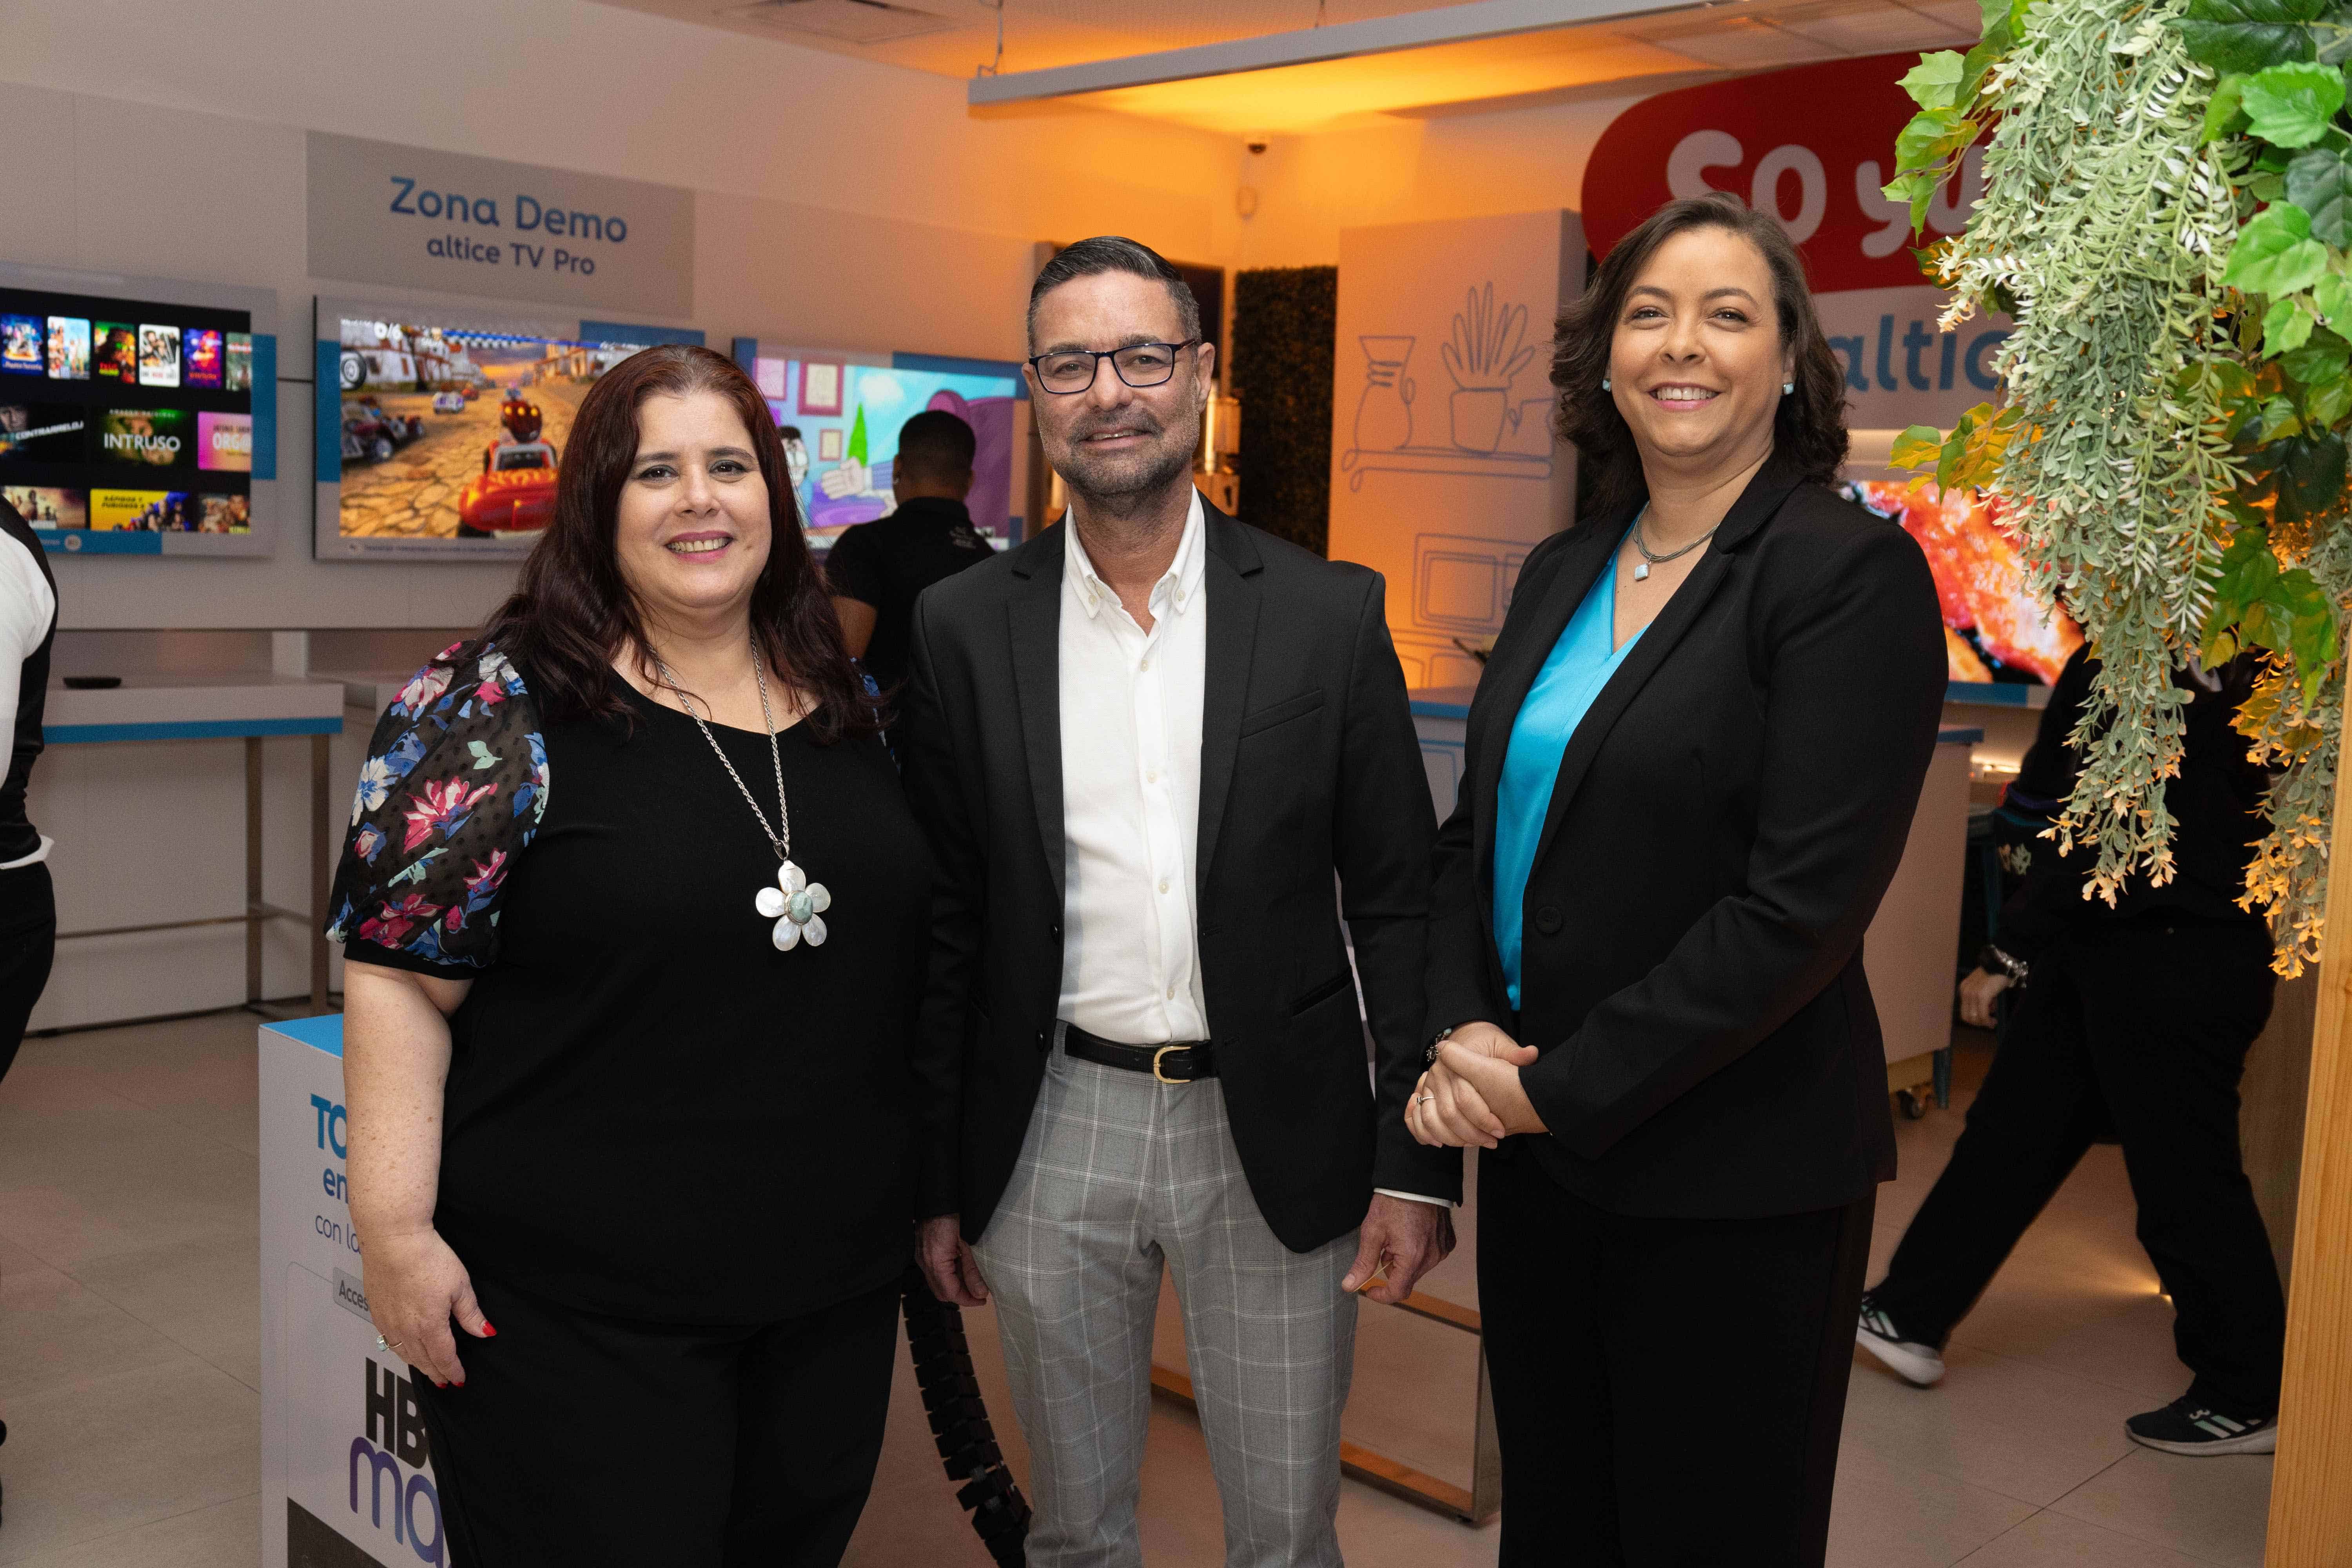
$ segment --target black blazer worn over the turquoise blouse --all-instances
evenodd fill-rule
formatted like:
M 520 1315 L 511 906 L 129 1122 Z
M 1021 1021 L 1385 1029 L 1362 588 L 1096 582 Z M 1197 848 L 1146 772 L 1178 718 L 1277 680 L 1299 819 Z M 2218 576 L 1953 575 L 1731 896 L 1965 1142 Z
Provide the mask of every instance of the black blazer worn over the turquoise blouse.
M 1430 1032 L 1543 1056 L 1548 1133 L 1508 1138 L 1630 1215 L 1837 1208 L 1893 1175 L 1863 931 L 1943 715 L 1919 545 L 1766 463 L 1602 686 L 1526 879 L 1522 1011 L 1496 959 L 1496 780 L 1519 703 L 1632 508 L 1536 545 L 1486 661 L 1461 804 L 1437 830 Z

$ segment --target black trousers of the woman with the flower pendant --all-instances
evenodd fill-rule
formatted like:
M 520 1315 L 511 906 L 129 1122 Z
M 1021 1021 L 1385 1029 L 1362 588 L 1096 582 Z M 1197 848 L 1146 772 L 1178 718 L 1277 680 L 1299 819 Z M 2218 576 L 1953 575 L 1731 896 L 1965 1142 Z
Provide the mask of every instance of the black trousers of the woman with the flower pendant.
M 473 1276 L 466 1387 L 412 1371 L 463 1568 L 833 1568 L 866 1507 L 898 1281 L 741 1328 L 574 1312 Z

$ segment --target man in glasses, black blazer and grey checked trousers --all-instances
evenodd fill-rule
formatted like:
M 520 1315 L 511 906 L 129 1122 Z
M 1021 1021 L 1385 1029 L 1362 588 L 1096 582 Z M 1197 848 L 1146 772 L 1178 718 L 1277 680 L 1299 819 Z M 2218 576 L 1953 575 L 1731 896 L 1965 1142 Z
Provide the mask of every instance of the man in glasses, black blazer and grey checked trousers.
M 920 1258 L 995 1300 L 1033 1568 L 1141 1563 L 1162 1262 L 1228 1561 L 1336 1566 L 1352 1293 L 1411 1291 L 1461 1197 L 1402 1124 L 1435 820 L 1383 585 L 1202 503 L 1216 350 L 1150 249 L 1061 252 L 1030 350 L 1065 527 L 915 607 Z

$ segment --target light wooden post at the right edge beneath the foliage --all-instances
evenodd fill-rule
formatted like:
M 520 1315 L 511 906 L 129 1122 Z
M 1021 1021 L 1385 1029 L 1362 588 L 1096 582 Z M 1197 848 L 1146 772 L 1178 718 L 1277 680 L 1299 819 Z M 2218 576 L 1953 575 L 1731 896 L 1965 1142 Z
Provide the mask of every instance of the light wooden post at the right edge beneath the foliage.
M 2286 1298 L 2286 1387 L 2265 1568 L 2352 1566 L 2352 766 L 2336 769 L 2312 1093 Z

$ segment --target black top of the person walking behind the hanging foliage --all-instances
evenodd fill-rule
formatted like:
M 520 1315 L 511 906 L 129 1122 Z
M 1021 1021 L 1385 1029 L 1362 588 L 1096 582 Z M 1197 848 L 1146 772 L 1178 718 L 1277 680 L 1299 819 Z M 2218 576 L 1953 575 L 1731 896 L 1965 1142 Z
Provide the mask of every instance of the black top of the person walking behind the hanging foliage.
M 2114 905 L 2107 905 L 2105 898 L 2082 896 L 2098 849 L 2077 842 L 2074 853 L 2060 856 L 2053 839 L 2039 837 L 2058 818 L 2082 771 L 2082 752 L 2067 745 L 2067 736 L 2082 719 L 2098 661 L 2089 644 L 2074 649 L 1994 813 L 1997 837 L 2023 844 L 2030 853 L 2025 879 L 2002 905 L 1994 943 L 2004 952 L 2032 959 L 2074 926 L 2152 914 L 2263 924 L 2260 914 L 2237 907 L 2237 898 L 2246 891 L 2253 846 L 2270 830 L 2263 795 L 2272 771 L 2253 762 L 2246 736 L 2234 726 L 2260 672 L 2258 654 L 2241 654 L 2211 675 L 2173 672 L 2173 686 L 2187 698 L 2180 715 L 2180 773 L 2164 785 L 2164 809 L 2173 816 L 2173 879 L 2152 886 L 2145 875 L 2133 877 Z

